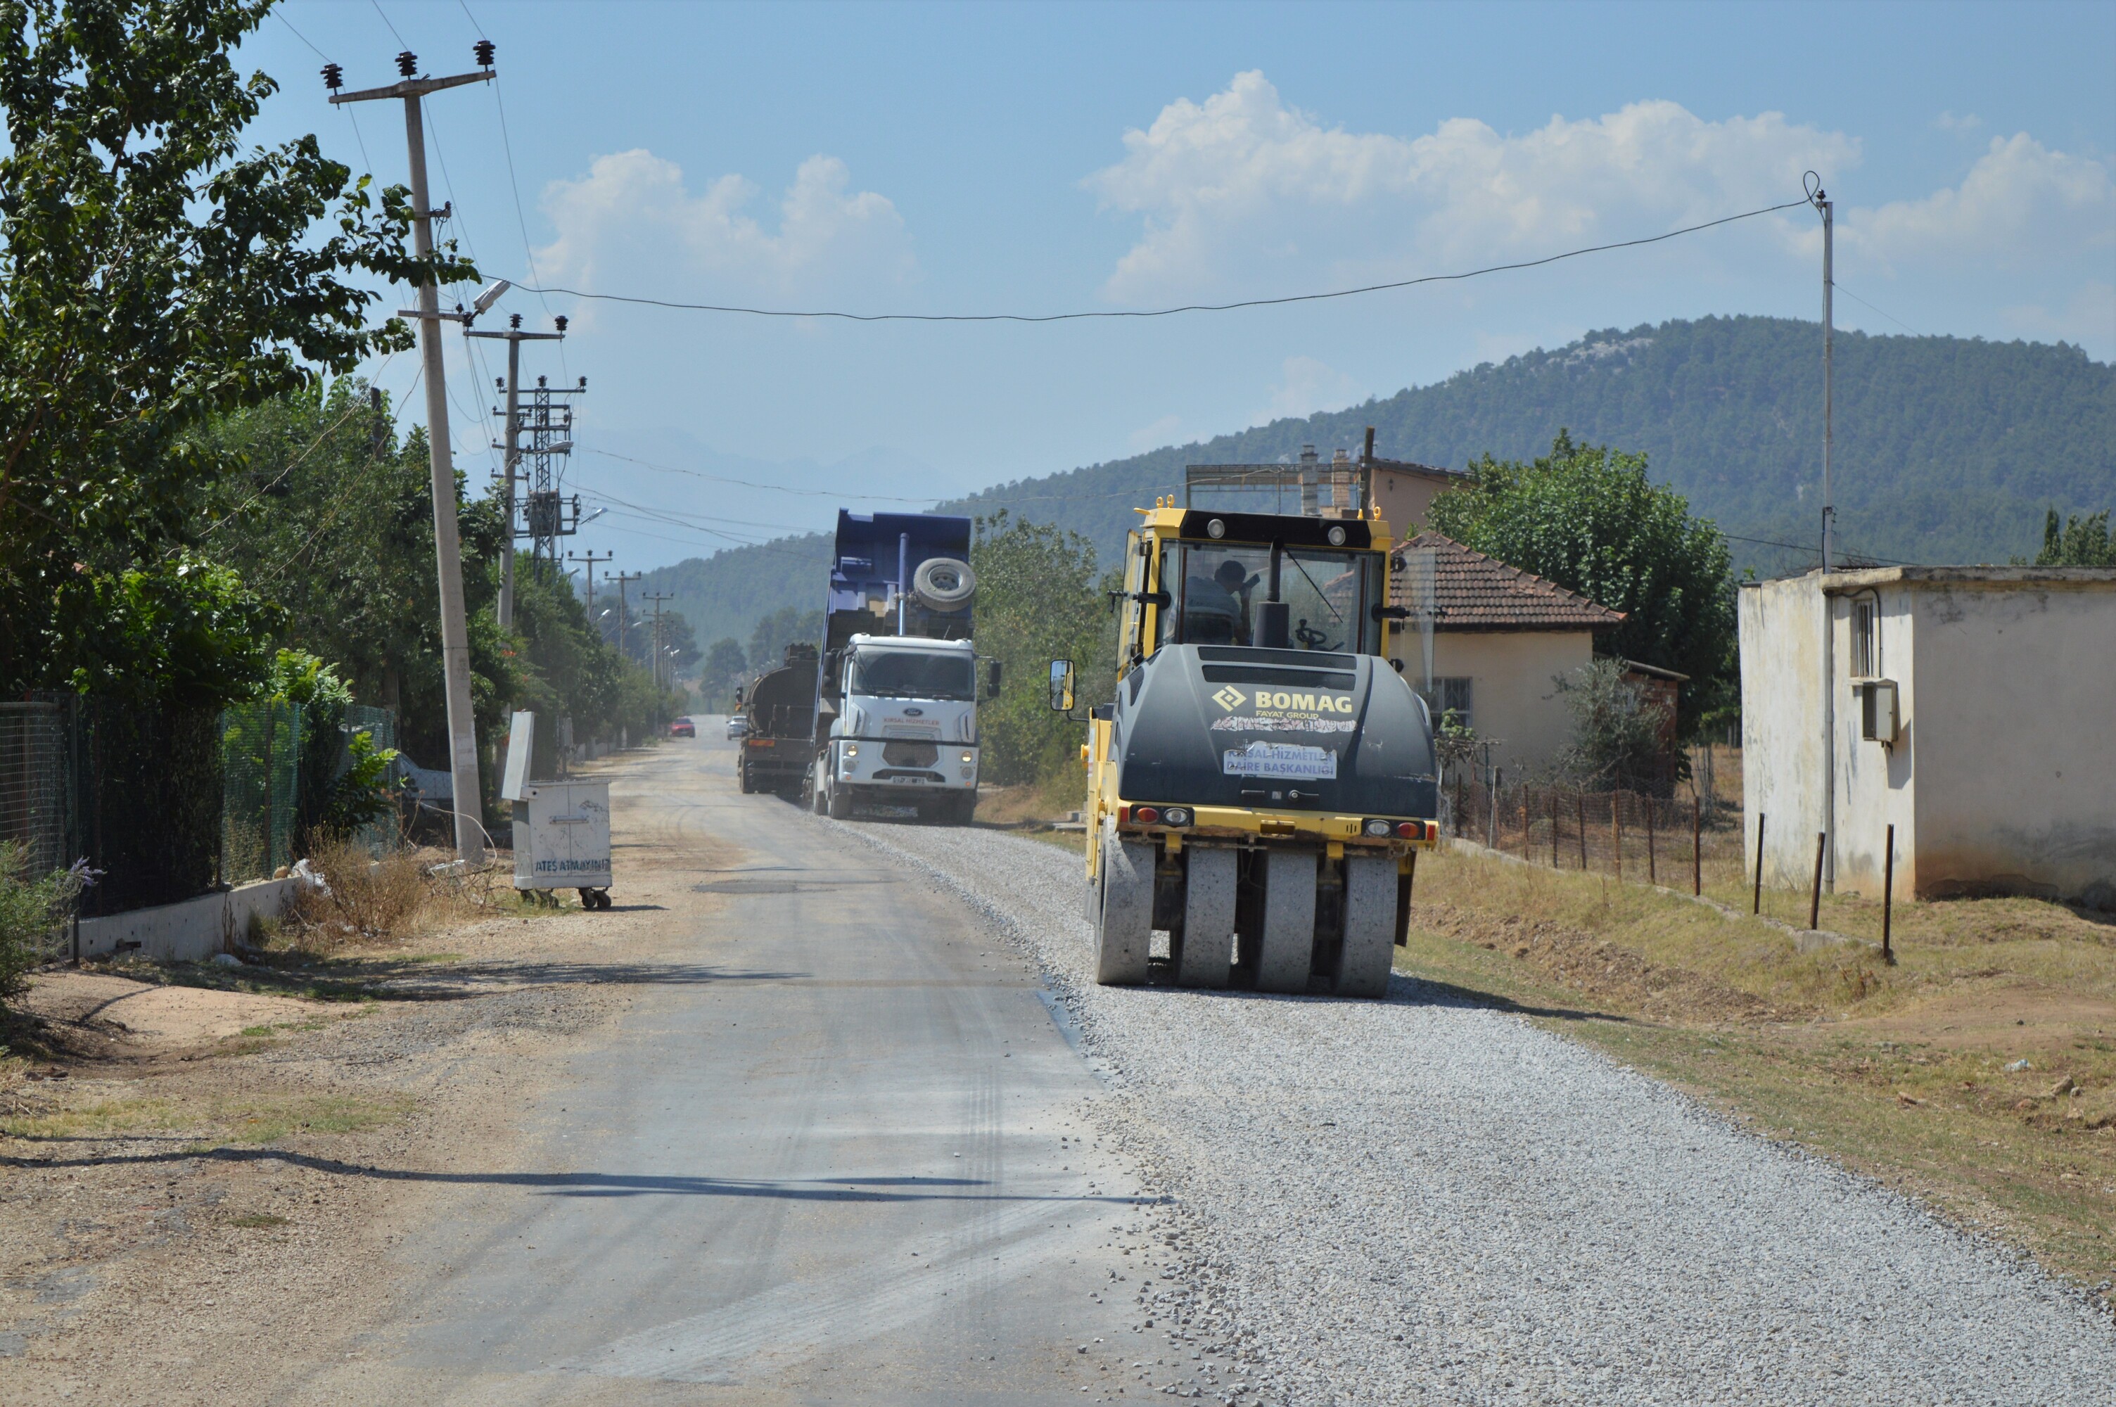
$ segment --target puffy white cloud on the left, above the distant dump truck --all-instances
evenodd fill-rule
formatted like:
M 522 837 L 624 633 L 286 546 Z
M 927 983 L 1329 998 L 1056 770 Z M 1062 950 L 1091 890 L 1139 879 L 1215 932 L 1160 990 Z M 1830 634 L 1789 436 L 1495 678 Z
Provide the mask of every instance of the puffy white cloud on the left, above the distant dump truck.
M 774 231 L 745 214 L 755 195 L 743 176 L 692 195 L 681 167 L 643 148 L 597 157 L 582 180 L 544 188 L 559 239 L 537 250 L 537 269 L 573 288 L 764 296 L 893 288 L 914 277 L 897 207 L 851 190 L 836 157 L 800 163 Z

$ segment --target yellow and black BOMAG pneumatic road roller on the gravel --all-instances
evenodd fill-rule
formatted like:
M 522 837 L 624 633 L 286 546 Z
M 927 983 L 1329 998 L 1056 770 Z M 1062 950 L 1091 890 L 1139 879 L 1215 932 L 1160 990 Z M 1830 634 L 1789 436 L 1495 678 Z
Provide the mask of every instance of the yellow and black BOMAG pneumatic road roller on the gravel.
M 1388 597 L 1388 525 L 1342 497 L 1138 510 L 1117 690 L 1081 749 L 1098 982 L 1388 990 L 1439 768 L 1426 705 L 1386 658 L 1409 616 Z M 1073 679 L 1052 662 L 1054 709 L 1075 711 Z

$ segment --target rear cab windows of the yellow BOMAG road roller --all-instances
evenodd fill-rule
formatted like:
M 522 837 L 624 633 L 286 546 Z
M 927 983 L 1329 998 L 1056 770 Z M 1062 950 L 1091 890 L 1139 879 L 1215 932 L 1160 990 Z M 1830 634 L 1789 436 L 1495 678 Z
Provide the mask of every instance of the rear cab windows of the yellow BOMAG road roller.
M 1257 605 L 1270 599 L 1272 550 L 1170 542 L 1162 548 L 1162 590 L 1174 603 L 1160 614 L 1164 645 L 1253 645 Z M 1295 650 L 1380 654 L 1382 554 L 1284 548 L 1278 599 Z

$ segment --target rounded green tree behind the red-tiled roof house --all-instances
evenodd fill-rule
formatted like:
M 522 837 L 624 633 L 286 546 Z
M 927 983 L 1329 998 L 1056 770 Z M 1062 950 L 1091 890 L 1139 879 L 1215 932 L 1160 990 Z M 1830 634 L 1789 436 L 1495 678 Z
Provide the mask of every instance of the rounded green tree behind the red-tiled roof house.
M 1733 559 L 1718 527 L 1646 478 L 1646 457 L 1557 432 L 1532 463 L 1485 455 L 1475 482 L 1433 499 L 1430 525 L 1466 548 L 1534 571 L 1625 620 L 1598 647 L 1691 677 L 1680 728 L 1733 705 Z

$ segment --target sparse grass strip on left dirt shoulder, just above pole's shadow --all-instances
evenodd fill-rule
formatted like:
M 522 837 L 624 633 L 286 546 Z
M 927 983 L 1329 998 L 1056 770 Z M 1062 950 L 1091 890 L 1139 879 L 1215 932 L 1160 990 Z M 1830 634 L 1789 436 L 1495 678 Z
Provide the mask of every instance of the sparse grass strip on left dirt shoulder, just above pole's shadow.
M 205 1153 L 229 1145 L 281 1143 L 294 1134 L 353 1134 L 396 1121 L 413 1104 L 402 1096 L 345 1094 L 176 1100 L 47 1090 L 30 1100 L 15 1092 L 13 1111 L 0 1113 L 0 1138 L 80 1143 L 176 1134 L 186 1140 L 186 1151 Z

